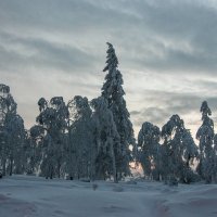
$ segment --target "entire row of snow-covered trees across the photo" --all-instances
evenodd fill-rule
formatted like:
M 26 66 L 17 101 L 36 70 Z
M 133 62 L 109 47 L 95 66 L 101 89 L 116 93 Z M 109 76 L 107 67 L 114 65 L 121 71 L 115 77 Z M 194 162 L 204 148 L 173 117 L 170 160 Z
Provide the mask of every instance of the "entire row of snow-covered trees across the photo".
M 39 99 L 36 125 L 29 130 L 17 114 L 10 87 L 0 85 L 0 170 L 46 178 L 113 179 L 130 176 L 130 163 L 141 164 L 155 180 L 217 181 L 217 135 L 212 112 L 202 103 L 199 146 L 175 114 L 159 129 L 143 123 L 135 139 L 124 99 L 123 76 L 115 49 L 107 42 L 101 95 Z M 196 167 L 196 169 L 194 169 Z

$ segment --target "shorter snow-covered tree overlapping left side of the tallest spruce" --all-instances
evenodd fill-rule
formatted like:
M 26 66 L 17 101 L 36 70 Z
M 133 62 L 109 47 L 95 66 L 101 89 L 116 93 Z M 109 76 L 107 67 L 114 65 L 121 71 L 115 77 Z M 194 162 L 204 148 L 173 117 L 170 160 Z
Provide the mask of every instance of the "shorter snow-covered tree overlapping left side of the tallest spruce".
M 93 122 L 93 150 L 92 179 L 114 178 L 117 182 L 116 157 L 122 154 L 119 135 L 111 110 L 107 108 L 107 101 L 97 98 L 91 101 L 94 112 Z

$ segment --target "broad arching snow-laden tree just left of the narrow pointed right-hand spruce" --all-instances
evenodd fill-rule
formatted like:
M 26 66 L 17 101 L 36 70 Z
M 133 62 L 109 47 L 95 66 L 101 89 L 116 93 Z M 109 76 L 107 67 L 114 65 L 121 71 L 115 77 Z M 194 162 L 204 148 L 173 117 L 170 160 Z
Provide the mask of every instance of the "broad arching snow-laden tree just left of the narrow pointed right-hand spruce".
M 191 182 L 193 171 L 190 166 L 194 157 L 197 157 L 197 148 L 179 115 L 173 115 L 163 126 L 162 138 L 162 162 L 166 170 L 164 175 L 176 177 L 181 182 Z

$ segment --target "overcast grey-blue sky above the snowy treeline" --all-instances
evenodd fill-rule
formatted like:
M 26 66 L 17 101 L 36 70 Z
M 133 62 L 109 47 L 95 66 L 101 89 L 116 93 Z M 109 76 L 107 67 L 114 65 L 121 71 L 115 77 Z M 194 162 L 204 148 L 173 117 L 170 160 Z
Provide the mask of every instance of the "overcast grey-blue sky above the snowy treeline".
M 106 41 L 136 133 L 173 114 L 194 133 L 204 100 L 217 122 L 217 1 L 0 0 L 0 82 L 27 128 L 41 97 L 100 95 Z

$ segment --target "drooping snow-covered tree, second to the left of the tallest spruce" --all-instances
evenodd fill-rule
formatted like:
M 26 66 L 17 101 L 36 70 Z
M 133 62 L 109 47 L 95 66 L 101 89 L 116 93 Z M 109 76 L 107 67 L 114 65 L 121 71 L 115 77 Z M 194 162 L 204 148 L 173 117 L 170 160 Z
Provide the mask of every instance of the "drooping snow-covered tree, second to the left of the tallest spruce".
M 68 123 L 68 145 L 66 171 L 71 179 L 90 178 L 92 145 L 92 111 L 87 98 L 74 97 L 67 104 L 71 122 Z

